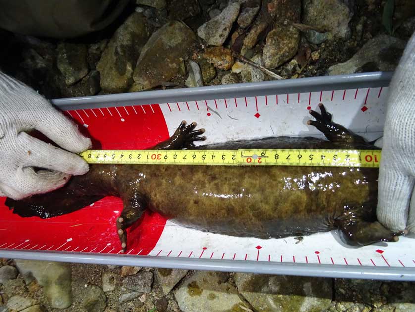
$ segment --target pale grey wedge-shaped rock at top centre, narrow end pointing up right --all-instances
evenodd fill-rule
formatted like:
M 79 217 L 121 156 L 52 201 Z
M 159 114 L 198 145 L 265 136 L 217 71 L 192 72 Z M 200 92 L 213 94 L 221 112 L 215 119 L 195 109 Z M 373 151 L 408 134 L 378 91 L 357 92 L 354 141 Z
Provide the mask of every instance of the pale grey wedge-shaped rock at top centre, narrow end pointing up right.
M 238 17 L 240 5 L 232 3 L 222 13 L 198 28 L 198 35 L 209 45 L 221 46 L 229 35 L 232 24 Z

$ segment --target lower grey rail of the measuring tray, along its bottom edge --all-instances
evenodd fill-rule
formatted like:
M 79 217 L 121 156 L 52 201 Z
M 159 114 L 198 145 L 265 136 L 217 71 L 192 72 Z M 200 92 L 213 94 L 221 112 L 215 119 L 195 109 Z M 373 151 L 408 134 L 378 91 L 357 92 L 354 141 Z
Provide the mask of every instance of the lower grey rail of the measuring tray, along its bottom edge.
M 45 261 L 75 262 L 86 264 L 112 264 L 208 270 L 223 272 L 246 272 L 260 274 L 300 275 L 336 278 L 361 278 L 378 280 L 414 281 L 415 268 L 369 267 L 356 265 L 328 265 L 305 263 L 278 263 L 241 260 L 167 258 L 154 256 L 109 255 L 95 253 L 73 253 L 1 250 L 0 257 L 13 259 L 36 259 Z

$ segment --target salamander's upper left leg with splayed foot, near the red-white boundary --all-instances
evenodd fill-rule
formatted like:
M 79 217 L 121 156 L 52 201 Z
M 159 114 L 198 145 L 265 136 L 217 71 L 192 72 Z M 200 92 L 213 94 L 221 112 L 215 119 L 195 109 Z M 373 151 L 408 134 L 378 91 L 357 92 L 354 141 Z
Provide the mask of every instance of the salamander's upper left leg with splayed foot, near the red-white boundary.
M 186 126 L 186 121 L 182 121 L 168 140 L 157 144 L 151 149 L 182 149 L 195 147 L 193 142 L 206 140 L 206 136 L 200 136 L 205 133 L 205 129 L 195 130 L 196 125 L 197 124 L 193 122 Z

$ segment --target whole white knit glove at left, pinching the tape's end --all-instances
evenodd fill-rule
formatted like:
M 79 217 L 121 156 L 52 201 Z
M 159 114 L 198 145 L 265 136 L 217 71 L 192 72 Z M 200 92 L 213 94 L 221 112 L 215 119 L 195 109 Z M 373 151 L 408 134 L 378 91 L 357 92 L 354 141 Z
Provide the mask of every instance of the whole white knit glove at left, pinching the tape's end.
M 24 132 L 33 129 L 70 152 L 91 146 L 91 140 L 44 97 L 0 72 L 0 196 L 22 199 L 46 193 L 89 169 L 78 155 Z

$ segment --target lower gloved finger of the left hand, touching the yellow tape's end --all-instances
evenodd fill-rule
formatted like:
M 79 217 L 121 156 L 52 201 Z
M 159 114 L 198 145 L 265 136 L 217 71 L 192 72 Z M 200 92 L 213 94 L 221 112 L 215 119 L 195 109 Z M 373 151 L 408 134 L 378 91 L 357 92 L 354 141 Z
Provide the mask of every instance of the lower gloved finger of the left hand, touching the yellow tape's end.
M 83 175 L 89 170 L 87 162 L 78 155 L 42 142 L 25 132 L 19 133 L 18 140 L 19 146 L 22 146 L 24 166 L 56 170 L 71 175 Z

